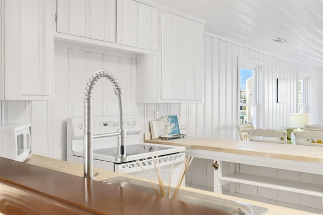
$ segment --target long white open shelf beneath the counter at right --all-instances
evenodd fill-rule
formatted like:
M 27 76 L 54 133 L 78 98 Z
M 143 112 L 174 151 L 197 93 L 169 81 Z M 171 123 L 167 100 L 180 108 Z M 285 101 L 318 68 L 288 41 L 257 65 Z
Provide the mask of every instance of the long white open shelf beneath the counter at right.
M 319 184 L 270 178 L 245 173 L 233 173 L 227 176 L 222 176 L 220 177 L 220 180 L 323 197 L 323 186 Z

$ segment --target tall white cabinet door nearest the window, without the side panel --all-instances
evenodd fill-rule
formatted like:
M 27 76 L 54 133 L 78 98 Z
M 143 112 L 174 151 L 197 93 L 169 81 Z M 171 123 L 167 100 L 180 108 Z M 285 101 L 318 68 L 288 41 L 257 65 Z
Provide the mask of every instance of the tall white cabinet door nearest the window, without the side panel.
M 161 99 L 201 101 L 204 25 L 165 11 L 162 17 Z

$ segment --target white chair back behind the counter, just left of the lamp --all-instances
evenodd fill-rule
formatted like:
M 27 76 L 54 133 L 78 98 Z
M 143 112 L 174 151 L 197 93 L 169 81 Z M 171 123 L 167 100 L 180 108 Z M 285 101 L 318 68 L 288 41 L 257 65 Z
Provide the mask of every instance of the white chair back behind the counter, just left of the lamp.
M 249 129 L 247 130 L 249 141 L 274 142 L 276 144 L 287 144 L 286 130 L 274 129 Z

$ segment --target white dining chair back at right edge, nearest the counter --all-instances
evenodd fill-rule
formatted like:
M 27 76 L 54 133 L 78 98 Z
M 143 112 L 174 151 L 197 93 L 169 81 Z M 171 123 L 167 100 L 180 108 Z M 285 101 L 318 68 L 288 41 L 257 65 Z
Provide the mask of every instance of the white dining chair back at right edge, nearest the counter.
M 323 147 L 323 130 L 293 131 L 296 145 Z

